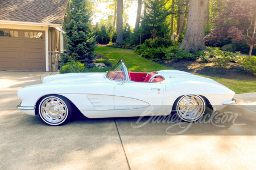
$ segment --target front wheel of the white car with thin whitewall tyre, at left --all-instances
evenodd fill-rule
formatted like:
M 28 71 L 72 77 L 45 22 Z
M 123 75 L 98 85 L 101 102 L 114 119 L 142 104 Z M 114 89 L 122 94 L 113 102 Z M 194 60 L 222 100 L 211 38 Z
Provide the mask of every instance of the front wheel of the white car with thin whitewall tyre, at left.
M 62 96 L 44 97 L 39 104 L 39 116 L 48 125 L 62 125 L 71 118 L 72 107 Z

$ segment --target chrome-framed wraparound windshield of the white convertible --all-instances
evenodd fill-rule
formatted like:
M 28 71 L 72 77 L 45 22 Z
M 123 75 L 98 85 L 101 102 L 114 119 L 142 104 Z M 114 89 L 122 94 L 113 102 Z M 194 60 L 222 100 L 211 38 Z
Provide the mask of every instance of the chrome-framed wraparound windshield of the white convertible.
M 111 70 L 106 74 L 108 78 L 113 80 L 126 80 L 125 68 L 123 68 L 123 61 L 119 61 Z

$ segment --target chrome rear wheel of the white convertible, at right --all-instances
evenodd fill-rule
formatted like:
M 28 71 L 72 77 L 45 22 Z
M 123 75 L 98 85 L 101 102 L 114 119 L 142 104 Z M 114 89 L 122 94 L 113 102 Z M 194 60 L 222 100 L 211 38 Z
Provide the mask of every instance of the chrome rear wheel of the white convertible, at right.
M 177 102 L 176 112 L 178 116 L 188 122 L 199 120 L 204 114 L 205 102 L 197 95 L 187 95 L 181 97 Z

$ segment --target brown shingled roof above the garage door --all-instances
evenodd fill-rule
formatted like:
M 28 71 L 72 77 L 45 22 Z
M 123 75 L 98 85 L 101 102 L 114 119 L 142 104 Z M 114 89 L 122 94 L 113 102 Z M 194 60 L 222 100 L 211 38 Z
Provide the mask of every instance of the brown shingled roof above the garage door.
M 0 0 L 0 20 L 61 24 L 67 0 Z

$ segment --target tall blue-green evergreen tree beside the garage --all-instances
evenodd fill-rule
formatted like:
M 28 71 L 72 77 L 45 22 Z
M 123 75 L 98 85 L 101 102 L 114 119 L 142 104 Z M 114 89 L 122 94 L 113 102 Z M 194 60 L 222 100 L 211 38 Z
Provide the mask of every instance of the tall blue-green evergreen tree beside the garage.
M 72 11 L 68 12 L 70 22 L 63 23 L 65 39 L 67 40 L 67 52 L 61 55 L 62 62 L 68 62 L 69 56 L 76 57 L 84 63 L 86 68 L 93 67 L 93 59 L 96 57 L 96 36 L 90 25 L 89 2 L 87 0 L 71 1 Z

